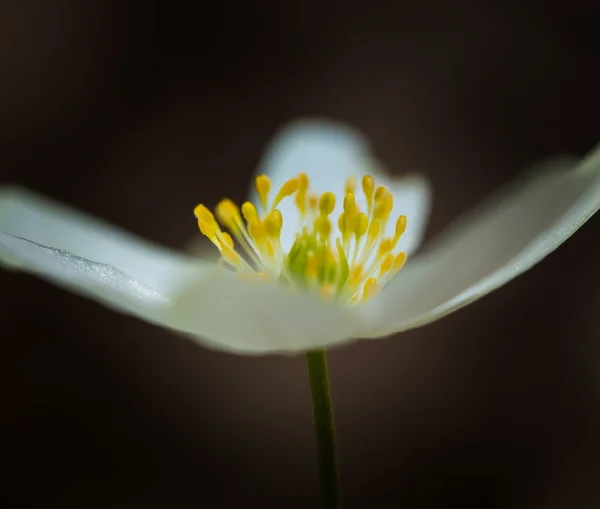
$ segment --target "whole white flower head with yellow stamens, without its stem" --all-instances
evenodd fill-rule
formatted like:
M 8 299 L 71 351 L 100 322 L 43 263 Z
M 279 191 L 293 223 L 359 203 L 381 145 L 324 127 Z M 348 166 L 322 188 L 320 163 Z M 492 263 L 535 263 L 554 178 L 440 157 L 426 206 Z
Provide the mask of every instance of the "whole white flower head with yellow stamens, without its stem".
M 580 161 L 539 165 L 410 257 L 426 226 L 428 185 L 418 176 L 390 180 L 349 128 L 292 125 L 258 174 L 269 178 L 257 181 L 256 206 L 241 209 L 249 223 L 238 221 L 232 202 L 217 207 L 236 246 L 208 209 L 195 210 L 224 264 L 11 187 L 0 188 L 0 262 L 204 345 L 294 353 L 437 320 L 531 268 L 600 207 L 596 149 Z M 250 256 L 240 255 L 244 244 Z

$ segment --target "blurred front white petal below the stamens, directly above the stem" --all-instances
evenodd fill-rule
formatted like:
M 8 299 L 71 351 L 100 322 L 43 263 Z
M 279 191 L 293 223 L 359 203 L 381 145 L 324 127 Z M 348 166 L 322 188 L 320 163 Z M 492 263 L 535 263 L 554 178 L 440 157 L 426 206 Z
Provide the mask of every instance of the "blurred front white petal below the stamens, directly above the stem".
M 298 353 L 357 337 L 360 323 L 354 311 L 274 282 L 221 273 L 191 279 L 174 300 L 171 319 L 221 349 Z

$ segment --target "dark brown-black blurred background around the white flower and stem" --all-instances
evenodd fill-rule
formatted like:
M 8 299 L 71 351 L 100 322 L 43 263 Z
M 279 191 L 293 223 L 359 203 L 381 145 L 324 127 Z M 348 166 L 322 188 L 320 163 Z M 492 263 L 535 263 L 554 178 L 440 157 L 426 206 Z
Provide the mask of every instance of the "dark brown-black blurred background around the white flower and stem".
M 430 239 L 600 141 L 587 5 L 7 0 L 0 182 L 181 248 L 194 205 L 242 200 L 274 132 L 325 116 L 430 177 Z M 331 352 L 345 507 L 598 506 L 599 228 L 435 324 Z M 0 288 L 3 507 L 317 507 L 302 357 L 207 350 L 31 276 Z

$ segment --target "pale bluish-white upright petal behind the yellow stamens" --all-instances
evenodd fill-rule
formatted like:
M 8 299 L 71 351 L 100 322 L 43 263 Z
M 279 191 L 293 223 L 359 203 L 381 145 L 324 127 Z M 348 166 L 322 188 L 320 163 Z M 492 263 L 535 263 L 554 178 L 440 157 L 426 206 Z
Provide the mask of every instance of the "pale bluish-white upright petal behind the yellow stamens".
M 337 197 L 333 217 L 342 212 L 344 184 L 349 177 L 360 179 L 371 174 L 376 185 L 384 185 L 394 194 L 393 215 L 404 214 L 408 226 L 400 248 L 409 254 L 419 245 L 428 218 L 430 189 L 419 176 L 392 179 L 370 155 L 367 140 L 351 127 L 332 121 L 297 121 L 277 133 L 268 145 L 258 167 L 258 174 L 266 174 L 273 185 L 272 193 L 288 179 L 304 172 L 310 180 L 310 192 L 317 194 L 332 191 Z M 360 187 L 359 187 L 360 190 Z M 366 210 L 361 192 L 356 194 L 357 203 Z M 257 203 L 254 189 L 251 199 Z M 283 216 L 282 246 L 288 249 L 298 231 L 300 215 L 293 199 L 281 202 L 277 207 Z M 393 235 L 394 224 L 390 221 L 388 235 Z

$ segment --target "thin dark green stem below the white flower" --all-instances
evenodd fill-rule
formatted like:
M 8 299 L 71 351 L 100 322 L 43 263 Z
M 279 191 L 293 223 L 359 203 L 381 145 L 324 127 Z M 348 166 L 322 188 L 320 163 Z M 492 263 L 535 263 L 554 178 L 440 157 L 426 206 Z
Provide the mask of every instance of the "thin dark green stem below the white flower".
M 321 507 L 322 509 L 339 509 L 341 507 L 340 478 L 335 452 L 335 430 L 325 350 L 308 352 L 306 360 L 317 435 Z

